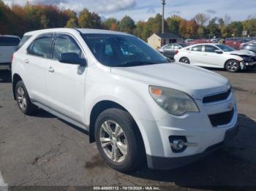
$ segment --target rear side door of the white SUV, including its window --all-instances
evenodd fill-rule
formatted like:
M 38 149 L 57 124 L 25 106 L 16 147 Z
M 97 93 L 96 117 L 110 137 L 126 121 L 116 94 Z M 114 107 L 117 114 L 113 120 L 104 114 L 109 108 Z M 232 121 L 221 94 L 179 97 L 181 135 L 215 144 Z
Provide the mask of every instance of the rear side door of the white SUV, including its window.
M 32 101 L 39 104 L 47 104 L 45 88 L 45 70 L 49 61 L 50 47 L 53 42 L 53 34 L 38 36 L 29 45 L 23 64 L 26 67 L 26 82 Z

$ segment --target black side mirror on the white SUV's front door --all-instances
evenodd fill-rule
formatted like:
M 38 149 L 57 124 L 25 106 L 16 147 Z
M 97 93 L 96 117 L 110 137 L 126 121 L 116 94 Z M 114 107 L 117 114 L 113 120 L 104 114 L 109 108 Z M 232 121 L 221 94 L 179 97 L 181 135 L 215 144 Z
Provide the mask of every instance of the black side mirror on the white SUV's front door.
M 80 58 L 75 52 L 64 52 L 59 55 L 59 62 L 79 64 L 80 66 L 86 66 L 86 59 Z

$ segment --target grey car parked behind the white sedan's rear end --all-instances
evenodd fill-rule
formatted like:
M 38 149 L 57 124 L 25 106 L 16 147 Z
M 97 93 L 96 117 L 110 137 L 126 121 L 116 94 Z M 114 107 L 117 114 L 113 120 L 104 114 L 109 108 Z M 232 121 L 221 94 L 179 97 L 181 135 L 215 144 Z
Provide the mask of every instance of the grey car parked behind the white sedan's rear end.
M 179 49 L 187 47 L 186 43 L 171 43 L 171 44 L 165 44 L 164 46 L 160 47 L 158 52 L 165 55 L 167 58 L 173 59 L 174 55 L 178 52 Z

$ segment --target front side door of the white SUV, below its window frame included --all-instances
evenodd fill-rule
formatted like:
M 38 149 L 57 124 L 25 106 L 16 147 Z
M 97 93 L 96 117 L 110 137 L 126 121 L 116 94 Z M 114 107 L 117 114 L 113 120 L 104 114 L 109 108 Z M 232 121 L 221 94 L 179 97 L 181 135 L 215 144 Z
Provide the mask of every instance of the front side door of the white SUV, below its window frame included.
M 83 123 L 86 67 L 72 63 L 60 63 L 61 53 L 75 52 L 85 58 L 83 51 L 69 34 L 56 34 L 52 59 L 46 69 L 48 105 L 53 112 Z

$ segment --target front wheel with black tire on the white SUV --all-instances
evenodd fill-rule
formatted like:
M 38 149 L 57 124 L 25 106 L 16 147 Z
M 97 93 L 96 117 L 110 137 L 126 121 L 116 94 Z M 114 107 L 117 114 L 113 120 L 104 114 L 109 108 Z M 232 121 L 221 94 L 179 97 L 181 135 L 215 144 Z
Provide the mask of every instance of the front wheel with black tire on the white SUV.
M 94 133 L 99 154 L 110 167 L 129 172 L 143 163 L 143 140 L 129 112 L 106 109 L 97 117 Z

